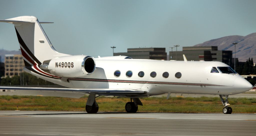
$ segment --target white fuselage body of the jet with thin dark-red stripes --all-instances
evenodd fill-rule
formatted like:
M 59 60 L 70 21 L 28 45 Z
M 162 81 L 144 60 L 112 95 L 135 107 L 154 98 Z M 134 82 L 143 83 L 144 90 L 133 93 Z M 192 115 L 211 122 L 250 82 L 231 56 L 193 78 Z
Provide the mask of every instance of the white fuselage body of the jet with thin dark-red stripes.
M 250 89 L 248 87 L 245 88 L 249 82 L 238 74 L 210 73 L 212 67 L 228 67 L 228 65 L 222 62 L 95 59 L 95 63 L 96 69 L 92 74 L 80 78 L 67 77 L 69 82 L 66 81 L 66 78 L 63 78 L 65 80 L 52 79 L 34 72 L 27 72 L 50 82 L 71 88 L 141 89 L 148 91 L 145 97 L 168 92 L 231 95 Z M 116 70 L 121 72 L 119 77 L 114 76 Z M 133 75 L 127 77 L 127 71 L 132 71 Z M 145 73 L 144 77 L 138 76 L 140 71 Z M 150 76 L 150 73 L 153 71 L 157 74 L 155 78 Z M 169 73 L 168 78 L 162 76 L 164 72 Z M 175 77 L 177 72 L 182 74 L 181 78 Z M 235 80 L 240 83 L 235 82 Z

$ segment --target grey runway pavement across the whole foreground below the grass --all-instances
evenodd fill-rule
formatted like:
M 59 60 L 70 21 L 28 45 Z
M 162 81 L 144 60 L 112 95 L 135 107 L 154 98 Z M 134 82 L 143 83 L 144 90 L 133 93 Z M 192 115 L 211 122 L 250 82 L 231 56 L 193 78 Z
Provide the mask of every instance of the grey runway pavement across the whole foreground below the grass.
M 0 135 L 252 135 L 256 114 L 0 111 Z

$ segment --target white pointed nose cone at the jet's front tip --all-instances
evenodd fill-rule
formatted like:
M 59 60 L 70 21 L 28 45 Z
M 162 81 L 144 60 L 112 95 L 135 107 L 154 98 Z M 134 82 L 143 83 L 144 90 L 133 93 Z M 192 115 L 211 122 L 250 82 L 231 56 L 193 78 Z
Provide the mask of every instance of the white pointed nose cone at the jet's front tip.
M 241 93 L 251 90 L 253 88 L 252 84 L 245 80 L 243 77 L 237 77 L 234 80 L 234 87 L 237 91 L 240 91 Z

